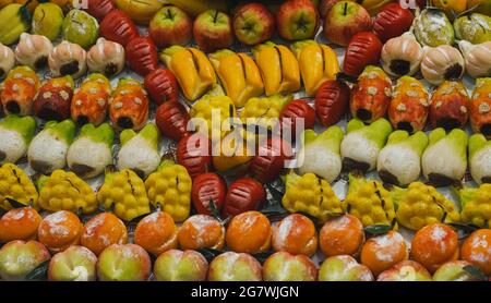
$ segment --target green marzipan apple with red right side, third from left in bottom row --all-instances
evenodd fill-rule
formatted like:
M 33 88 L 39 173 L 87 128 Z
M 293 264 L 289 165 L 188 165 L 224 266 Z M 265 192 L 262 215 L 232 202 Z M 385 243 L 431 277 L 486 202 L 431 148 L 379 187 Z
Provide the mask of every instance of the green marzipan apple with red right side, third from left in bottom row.
M 101 281 L 146 281 L 152 271 L 148 253 L 136 244 L 112 244 L 97 260 Z

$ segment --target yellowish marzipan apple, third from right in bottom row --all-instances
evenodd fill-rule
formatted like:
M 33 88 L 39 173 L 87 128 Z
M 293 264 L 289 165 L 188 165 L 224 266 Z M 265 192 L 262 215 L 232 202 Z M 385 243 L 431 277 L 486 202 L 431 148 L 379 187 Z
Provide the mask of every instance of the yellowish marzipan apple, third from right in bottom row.
M 370 269 L 352 256 L 326 258 L 319 269 L 319 281 L 373 281 Z

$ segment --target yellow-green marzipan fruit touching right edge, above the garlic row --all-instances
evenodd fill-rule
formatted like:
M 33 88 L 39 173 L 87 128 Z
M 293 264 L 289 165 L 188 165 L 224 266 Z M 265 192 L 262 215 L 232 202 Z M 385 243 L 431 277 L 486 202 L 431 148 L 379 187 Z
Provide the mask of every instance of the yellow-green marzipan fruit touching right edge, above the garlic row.
M 454 22 L 455 35 L 459 40 L 478 45 L 491 41 L 491 16 L 474 13 Z

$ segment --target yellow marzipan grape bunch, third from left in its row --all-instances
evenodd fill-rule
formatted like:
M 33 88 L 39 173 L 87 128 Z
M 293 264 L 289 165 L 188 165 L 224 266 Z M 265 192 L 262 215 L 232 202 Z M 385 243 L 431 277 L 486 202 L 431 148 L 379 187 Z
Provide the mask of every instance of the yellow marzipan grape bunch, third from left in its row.
M 106 209 L 113 206 L 115 215 L 125 221 L 151 210 L 145 183 L 130 169 L 113 171 L 112 167 L 108 167 L 97 201 Z

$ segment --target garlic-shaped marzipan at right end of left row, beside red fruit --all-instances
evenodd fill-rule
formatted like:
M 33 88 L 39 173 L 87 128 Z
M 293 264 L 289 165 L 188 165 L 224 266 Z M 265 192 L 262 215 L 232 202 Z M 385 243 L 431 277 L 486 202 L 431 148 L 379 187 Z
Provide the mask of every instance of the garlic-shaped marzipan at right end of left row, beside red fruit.
M 91 72 L 109 77 L 117 75 L 124 68 L 124 48 L 120 44 L 98 38 L 87 53 L 87 65 Z

